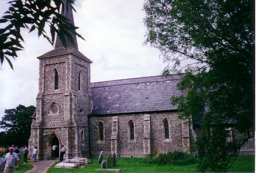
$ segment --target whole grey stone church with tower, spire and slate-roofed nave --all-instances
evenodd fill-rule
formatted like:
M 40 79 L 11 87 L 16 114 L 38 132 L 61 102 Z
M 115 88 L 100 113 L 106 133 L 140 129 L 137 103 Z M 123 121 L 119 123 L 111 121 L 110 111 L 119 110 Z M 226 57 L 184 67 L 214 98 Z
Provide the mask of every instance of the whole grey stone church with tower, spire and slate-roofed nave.
M 63 15 L 74 23 L 71 8 Z M 39 56 L 39 91 L 29 150 L 38 159 L 52 158 L 52 146 L 64 145 L 65 158 L 143 157 L 153 151 L 190 151 L 196 137 L 187 119 L 177 119 L 170 104 L 181 76 L 152 76 L 90 82 L 92 61 L 57 36 L 53 50 Z M 59 151 L 57 152 L 59 153 Z M 59 157 L 57 154 L 56 157 Z

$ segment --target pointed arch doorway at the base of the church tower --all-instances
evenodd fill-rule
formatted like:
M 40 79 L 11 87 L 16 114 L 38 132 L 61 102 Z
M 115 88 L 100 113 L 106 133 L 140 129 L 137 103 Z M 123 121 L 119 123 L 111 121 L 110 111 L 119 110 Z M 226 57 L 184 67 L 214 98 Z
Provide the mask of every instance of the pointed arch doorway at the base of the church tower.
M 52 159 L 52 146 L 56 144 L 58 147 L 56 148 L 56 154 L 55 154 L 55 159 L 58 159 L 60 157 L 60 152 L 59 152 L 59 147 L 60 147 L 60 141 L 58 139 L 58 137 L 55 135 L 55 133 L 52 133 L 49 137 L 48 140 L 48 154 L 47 154 L 47 160 Z

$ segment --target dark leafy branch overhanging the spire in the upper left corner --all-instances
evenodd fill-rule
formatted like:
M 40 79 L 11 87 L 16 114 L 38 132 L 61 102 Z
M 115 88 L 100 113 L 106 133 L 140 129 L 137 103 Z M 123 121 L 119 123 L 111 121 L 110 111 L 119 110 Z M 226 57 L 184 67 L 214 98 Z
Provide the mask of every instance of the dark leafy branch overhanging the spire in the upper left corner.
M 43 36 L 54 45 L 55 35 L 60 36 L 62 44 L 66 47 L 67 38 L 72 44 L 74 39 L 72 34 L 82 38 L 76 32 L 70 20 L 60 14 L 61 7 L 66 3 L 66 8 L 74 7 L 75 0 L 11 0 L 9 9 L 0 18 L 0 23 L 6 24 L 5 28 L 0 29 L 0 62 L 7 60 L 13 69 L 10 57 L 16 58 L 17 51 L 23 50 L 22 42 L 24 39 L 20 34 L 21 28 L 29 32 L 38 31 L 38 36 Z M 64 8 L 62 8 L 64 10 Z M 50 27 L 50 36 L 46 32 L 46 27 Z M 84 38 L 82 38 L 84 40 Z

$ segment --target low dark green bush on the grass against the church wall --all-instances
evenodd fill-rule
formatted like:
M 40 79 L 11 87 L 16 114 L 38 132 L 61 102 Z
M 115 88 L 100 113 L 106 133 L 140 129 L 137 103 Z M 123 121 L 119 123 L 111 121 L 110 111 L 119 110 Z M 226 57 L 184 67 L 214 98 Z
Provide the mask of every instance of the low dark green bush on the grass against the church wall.
M 188 165 L 197 163 L 197 159 L 189 153 L 174 151 L 168 153 L 154 152 L 144 157 L 144 163 L 160 165 Z

